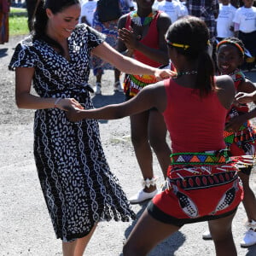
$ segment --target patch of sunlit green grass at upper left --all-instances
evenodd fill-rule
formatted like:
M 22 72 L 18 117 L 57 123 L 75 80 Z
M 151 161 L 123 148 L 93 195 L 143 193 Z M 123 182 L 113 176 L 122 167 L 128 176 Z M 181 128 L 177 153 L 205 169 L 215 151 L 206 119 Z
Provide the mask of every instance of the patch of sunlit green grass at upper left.
M 11 8 L 9 16 L 9 35 L 19 36 L 27 35 L 28 33 L 26 9 Z

